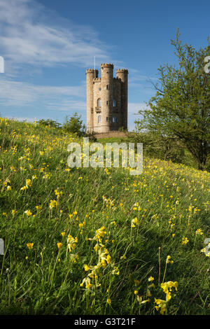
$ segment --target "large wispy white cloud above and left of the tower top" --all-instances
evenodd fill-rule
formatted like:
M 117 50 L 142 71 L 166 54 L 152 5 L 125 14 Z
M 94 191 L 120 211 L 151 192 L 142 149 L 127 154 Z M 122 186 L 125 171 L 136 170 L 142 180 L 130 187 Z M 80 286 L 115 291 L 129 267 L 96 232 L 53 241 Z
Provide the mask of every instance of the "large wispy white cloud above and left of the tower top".
M 108 46 L 94 29 L 58 18 L 34 0 L 1 0 L 0 12 L 1 55 L 16 69 L 25 64 L 87 67 L 94 55 L 109 61 Z

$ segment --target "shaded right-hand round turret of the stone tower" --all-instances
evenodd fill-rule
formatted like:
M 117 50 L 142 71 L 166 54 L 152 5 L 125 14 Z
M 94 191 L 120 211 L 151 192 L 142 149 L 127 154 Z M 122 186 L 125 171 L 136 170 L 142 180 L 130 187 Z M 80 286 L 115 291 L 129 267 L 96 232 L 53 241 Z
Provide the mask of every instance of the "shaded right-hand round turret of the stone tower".
M 118 69 L 116 71 L 117 78 L 121 80 L 121 99 L 122 99 L 122 119 L 123 127 L 127 129 L 127 69 Z

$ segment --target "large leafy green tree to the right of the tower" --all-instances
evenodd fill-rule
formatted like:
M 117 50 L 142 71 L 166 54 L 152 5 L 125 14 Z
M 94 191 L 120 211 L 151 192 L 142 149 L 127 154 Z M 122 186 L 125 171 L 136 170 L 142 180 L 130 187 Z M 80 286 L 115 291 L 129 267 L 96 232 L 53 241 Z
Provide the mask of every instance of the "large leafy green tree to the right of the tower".
M 139 111 L 143 118 L 135 123 L 139 131 L 178 138 L 203 170 L 210 145 L 210 73 L 204 71 L 210 42 L 208 38 L 207 47 L 197 51 L 192 45 L 182 45 L 179 36 L 178 29 L 171 40 L 178 67 L 160 66 L 159 83 L 153 83 L 155 97 L 148 102 L 148 109 Z

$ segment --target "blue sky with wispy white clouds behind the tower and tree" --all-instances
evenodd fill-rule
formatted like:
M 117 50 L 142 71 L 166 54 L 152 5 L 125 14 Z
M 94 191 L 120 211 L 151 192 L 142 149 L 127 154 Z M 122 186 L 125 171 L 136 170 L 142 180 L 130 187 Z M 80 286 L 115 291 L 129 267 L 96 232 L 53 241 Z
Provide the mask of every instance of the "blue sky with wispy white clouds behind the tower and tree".
M 209 1 L 0 0 L 0 113 L 4 118 L 86 123 L 85 70 L 102 62 L 129 71 L 128 125 L 155 94 L 161 64 L 176 63 L 170 40 L 207 45 Z M 210 55 L 210 54 L 209 54 Z

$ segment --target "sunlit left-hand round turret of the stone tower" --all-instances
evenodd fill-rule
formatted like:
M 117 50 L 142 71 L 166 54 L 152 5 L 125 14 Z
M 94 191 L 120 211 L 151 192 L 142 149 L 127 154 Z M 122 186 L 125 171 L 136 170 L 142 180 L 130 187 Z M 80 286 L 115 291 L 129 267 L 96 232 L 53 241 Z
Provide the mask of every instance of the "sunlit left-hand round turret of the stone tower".
M 87 92 L 87 133 L 93 131 L 93 80 L 98 77 L 99 71 L 87 69 L 86 71 L 86 92 Z

